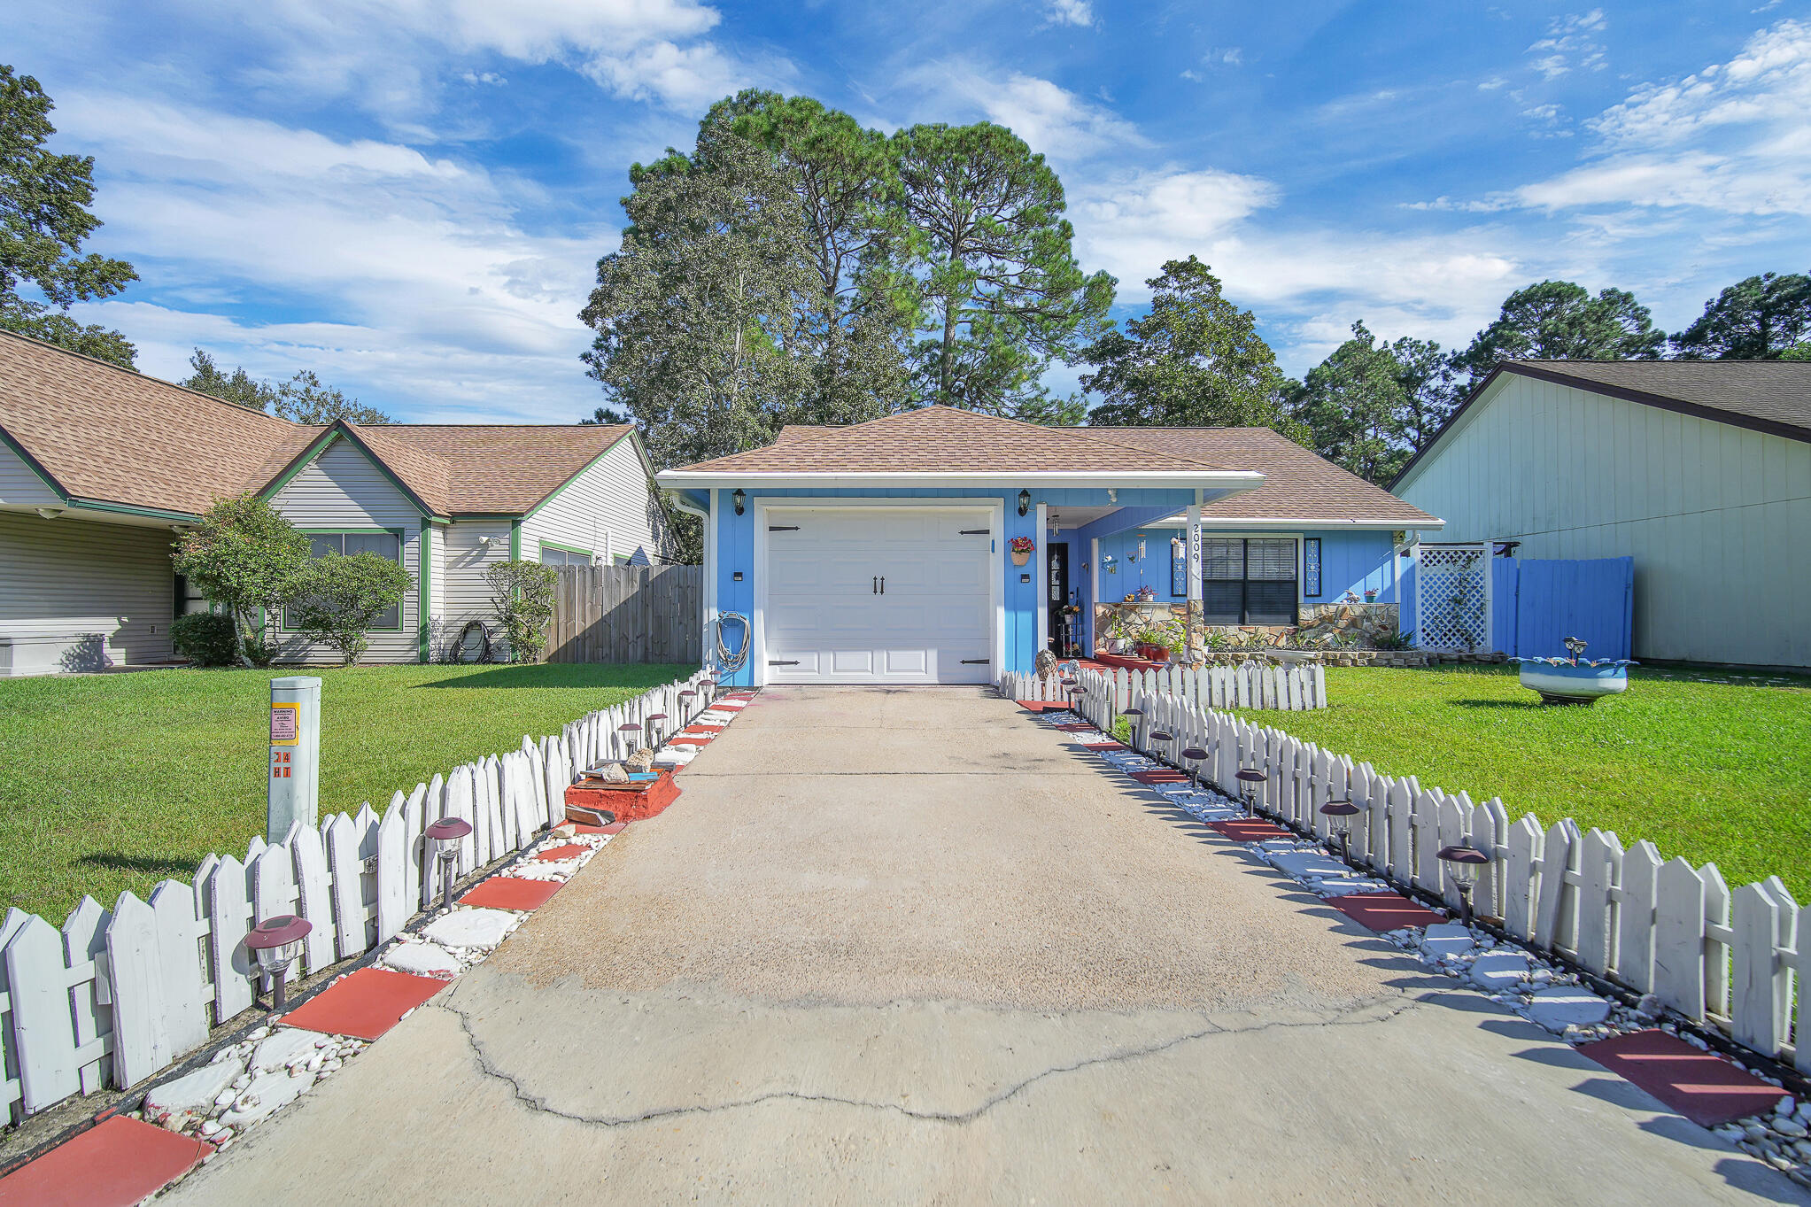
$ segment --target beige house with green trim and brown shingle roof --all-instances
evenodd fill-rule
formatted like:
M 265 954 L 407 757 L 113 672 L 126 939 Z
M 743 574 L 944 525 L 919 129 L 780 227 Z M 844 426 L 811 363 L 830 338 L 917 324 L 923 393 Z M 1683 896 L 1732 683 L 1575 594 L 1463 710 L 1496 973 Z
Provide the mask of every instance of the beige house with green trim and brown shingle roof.
M 397 559 L 415 590 L 366 661 L 436 661 L 491 621 L 493 563 L 663 561 L 650 481 L 627 425 L 308 427 L 0 333 L 0 675 L 170 661 L 170 621 L 206 608 L 170 545 L 248 490 L 317 554 Z M 284 662 L 331 661 L 277 635 Z

